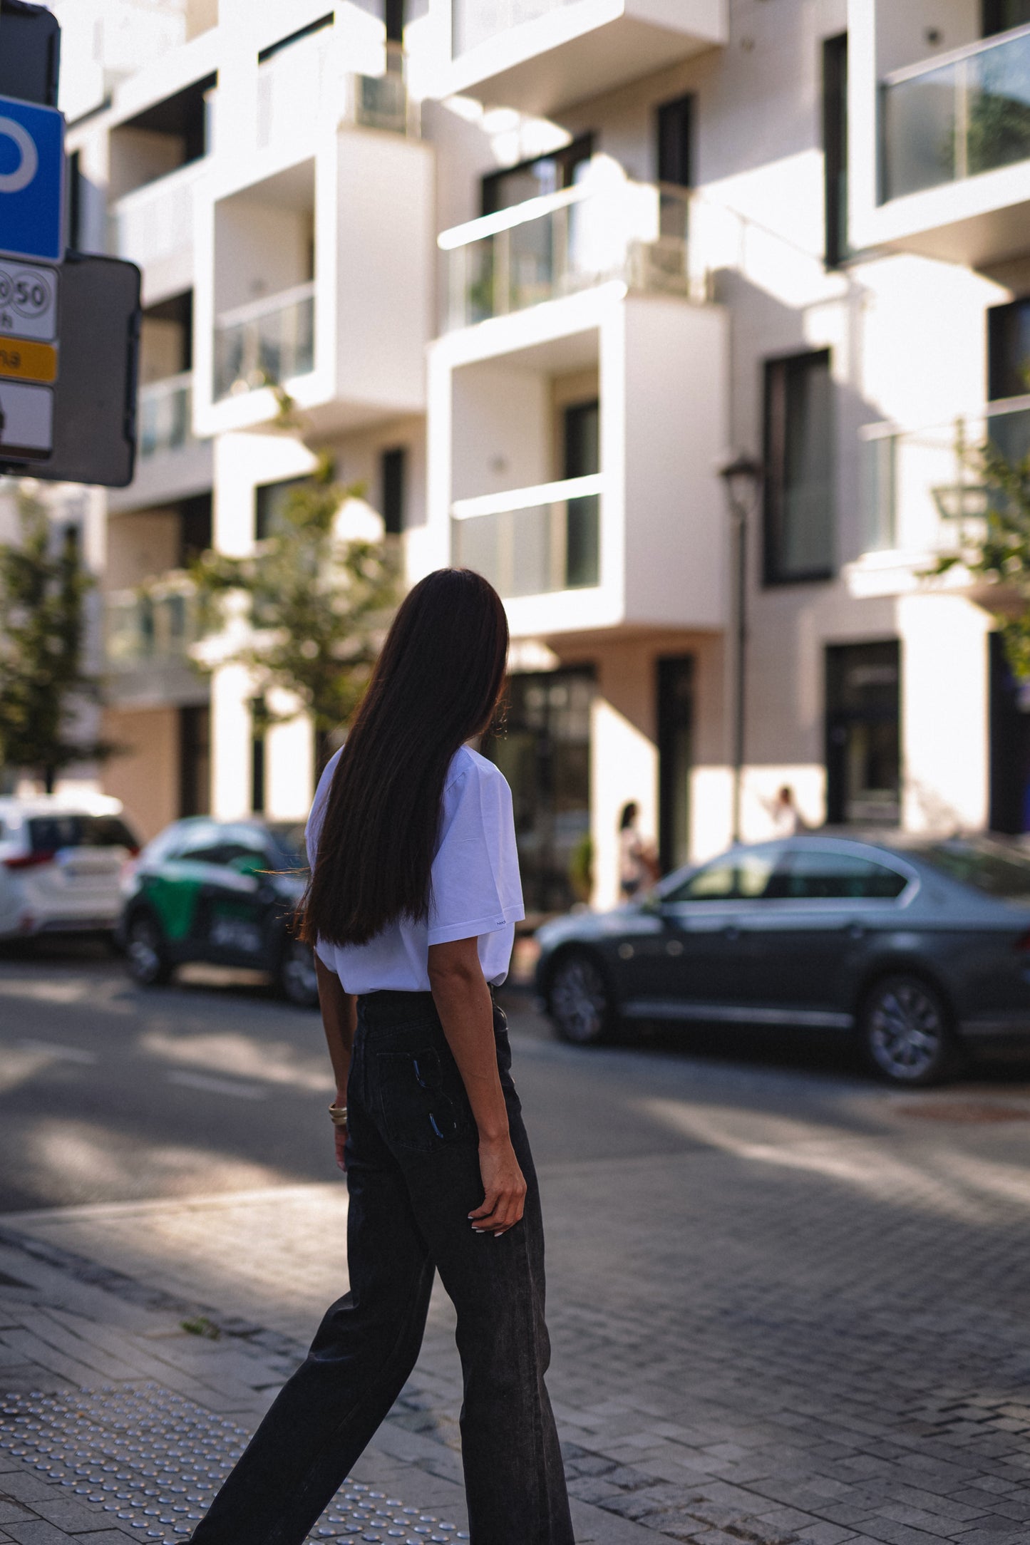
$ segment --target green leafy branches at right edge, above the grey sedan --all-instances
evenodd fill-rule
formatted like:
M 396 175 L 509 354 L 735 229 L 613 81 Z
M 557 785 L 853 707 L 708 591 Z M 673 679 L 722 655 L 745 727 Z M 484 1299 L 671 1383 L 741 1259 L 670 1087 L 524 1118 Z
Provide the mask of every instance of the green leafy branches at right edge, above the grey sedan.
M 1007 456 L 994 442 L 973 453 L 985 493 L 984 518 L 962 527 L 959 547 L 931 576 L 967 569 L 982 584 L 977 603 L 991 613 L 1019 681 L 1030 681 L 1030 453 Z

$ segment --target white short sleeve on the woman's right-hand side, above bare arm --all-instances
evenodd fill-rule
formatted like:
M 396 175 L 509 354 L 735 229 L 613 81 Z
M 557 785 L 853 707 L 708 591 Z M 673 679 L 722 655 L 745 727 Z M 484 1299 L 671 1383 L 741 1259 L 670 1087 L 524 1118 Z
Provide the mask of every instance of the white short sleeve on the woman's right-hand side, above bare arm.
M 491 762 L 466 756 L 468 765 L 443 791 L 429 944 L 480 938 L 525 916 L 511 789 Z

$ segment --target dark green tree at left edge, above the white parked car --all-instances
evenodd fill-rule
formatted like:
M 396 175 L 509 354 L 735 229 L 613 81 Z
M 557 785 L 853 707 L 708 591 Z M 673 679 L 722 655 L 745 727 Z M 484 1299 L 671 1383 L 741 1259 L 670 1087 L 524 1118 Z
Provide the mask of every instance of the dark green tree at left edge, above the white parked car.
M 82 734 L 99 700 L 85 669 L 85 598 L 93 589 L 74 530 L 56 535 L 39 499 L 19 493 L 20 541 L 0 544 L 0 762 L 53 793 L 62 768 L 114 749 Z

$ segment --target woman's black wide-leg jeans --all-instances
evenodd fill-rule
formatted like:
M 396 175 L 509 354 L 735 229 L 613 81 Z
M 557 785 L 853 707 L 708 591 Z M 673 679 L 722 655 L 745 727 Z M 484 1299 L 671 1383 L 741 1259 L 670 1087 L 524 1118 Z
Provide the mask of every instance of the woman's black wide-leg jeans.
M 434 1268 L 457 1310 L 473 1545 L 571 1545 L 544 1384 L 540 1197 L 497 1007 L 494 1038 L 528 1185 L 522 1221 L 499 1239 L 468 1222 L 483 1199 L 476 1123 L 432 997 L 358 998 L 347 1085 L 351 1292 L 326 1312 L 193 1545 L 300 1545 L 415 1364 Z

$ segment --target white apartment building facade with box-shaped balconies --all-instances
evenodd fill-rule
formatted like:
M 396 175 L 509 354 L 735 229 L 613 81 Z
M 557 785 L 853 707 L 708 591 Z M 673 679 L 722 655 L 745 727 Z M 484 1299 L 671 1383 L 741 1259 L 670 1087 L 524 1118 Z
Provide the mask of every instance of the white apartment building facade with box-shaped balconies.
M 304 814 L 313 737 L 190 671 L 181 567 L 261 539 L 312 450 L 412 579 L 513 632 L 534 913 L 772 830 L 1030 825 L 990 613 L 925 578 L 1030 448 L 1030 0 L 219 0 L 73 124 L 83 247 L 144 269 L 141 462 L 107 501 L 105 786 Z M 162 34 L 164 36 L 164 34 Z M 749 493 L 738 575 L 720 470 Z M 981 504 L 977 505 L 977 499 Z M 167 578 L 162 578 L 167 576 Z M 137 586 L 159 581 L 147 601 Z

